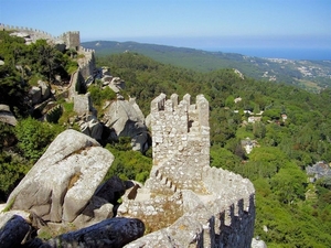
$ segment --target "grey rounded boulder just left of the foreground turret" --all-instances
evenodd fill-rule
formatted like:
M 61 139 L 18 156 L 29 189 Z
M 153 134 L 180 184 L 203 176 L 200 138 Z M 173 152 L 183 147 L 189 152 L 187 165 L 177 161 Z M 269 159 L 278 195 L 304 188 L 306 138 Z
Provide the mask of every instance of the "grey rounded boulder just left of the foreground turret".
M 111 128 L 117 137 L 130 137 L 134 150 L 147 150 L 148 132 L 145 117 L 134 98 L 113 101 L 105 109 L 103 122 Z

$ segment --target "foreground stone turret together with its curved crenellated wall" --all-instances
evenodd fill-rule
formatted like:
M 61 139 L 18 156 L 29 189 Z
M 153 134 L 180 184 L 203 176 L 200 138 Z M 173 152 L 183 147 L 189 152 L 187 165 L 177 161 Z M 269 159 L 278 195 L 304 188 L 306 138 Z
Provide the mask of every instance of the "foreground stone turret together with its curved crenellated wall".
M 140 218 L 147 234 L 126 247 L 250 247 L 255 190 L 247 179 L 210 166 L 209 103 L 164 94 L 151 103 L 153 165 L 118 215 Z

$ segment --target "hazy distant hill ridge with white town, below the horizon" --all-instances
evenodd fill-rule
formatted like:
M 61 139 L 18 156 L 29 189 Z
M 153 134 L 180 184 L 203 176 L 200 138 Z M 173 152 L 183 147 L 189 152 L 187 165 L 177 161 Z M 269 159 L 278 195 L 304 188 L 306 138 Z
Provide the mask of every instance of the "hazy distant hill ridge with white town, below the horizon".
M 84 42 L 96 55 L 136 52 L 164 64 L 172 64 L 200 72 L 236 68 L 248 77 L 297 85 L 309 91 L 331 87 L 331 61 L 291 61 L 261 58 L 236 53 L 206 52 L 202 50 L 137 42 Z

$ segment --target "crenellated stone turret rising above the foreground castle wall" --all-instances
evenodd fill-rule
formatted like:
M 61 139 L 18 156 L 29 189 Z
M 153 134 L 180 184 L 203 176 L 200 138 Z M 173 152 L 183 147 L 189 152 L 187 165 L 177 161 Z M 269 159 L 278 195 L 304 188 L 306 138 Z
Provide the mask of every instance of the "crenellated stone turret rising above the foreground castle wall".
M 178 101 L 173 94 L 161 94 L 151 103 L 153 166 L 147 187 L 162 192 L 160 177 L 167 177 L 172 191 L 205 192 L 201 171 L 210 165 L 209 103 L 203 95 L 191 105 L 186 94 Z M 169 192 L 173 193 L 173 192 Z

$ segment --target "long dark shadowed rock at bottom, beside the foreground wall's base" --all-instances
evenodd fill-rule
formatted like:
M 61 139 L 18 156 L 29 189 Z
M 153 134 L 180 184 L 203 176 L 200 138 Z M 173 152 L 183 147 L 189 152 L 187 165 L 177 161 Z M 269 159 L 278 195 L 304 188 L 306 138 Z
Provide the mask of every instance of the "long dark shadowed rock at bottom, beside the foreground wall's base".
M 90 227 L 50 239 L 44 247 L 119 248 L 141 237 L 145 225 L 137 218 L 109 218 Z

